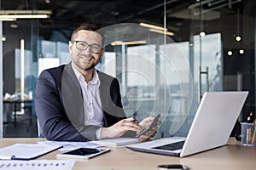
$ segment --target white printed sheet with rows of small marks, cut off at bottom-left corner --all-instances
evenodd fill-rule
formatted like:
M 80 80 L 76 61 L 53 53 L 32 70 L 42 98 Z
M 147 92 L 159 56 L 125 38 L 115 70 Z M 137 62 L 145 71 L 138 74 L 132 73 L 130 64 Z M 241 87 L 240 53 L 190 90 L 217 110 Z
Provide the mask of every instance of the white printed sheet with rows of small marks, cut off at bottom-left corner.
M 72 170 L 74 160 L 0 161 L 0 170 Z

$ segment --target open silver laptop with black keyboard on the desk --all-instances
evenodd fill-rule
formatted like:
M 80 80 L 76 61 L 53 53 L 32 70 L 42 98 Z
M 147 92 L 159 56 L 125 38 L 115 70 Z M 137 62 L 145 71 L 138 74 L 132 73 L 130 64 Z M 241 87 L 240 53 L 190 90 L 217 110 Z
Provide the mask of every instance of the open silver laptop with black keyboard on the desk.
M 156 139 L 126 147 L 168 156 L 189 156 L 227 144 L 248 92 L 207 92 L 186 138 Z

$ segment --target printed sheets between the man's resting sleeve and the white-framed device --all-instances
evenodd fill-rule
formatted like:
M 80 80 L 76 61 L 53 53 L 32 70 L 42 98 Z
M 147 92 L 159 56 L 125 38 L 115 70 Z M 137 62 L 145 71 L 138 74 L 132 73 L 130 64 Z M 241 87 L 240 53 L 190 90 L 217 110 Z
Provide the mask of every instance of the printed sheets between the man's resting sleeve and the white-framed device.
M 66 141 L 40 141 L 39 144 L 49 144 L 49 145 L 61 145 L 59 149 L 61 151 L 65 150 L 75 150 L 78 148 L 97 148 L 102 145 L 90 143 L 90 142 L 66 142 Z

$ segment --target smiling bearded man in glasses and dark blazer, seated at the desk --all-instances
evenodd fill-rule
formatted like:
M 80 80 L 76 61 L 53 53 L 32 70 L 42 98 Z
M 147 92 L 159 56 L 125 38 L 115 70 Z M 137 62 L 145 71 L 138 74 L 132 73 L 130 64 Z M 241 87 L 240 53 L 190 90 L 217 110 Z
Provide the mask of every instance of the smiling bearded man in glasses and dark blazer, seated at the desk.
M 138 123 L 126 118 L 119 82 L 95 66 L 104 54 L 104 37 L 92 23 L 73 31 L 71 63 L 38 77 L 35 107 L 40 135 L 49 140 L 88 141 L 140 132 L 153 117 Z M 154 132 L 155 133 L 155 132 Z

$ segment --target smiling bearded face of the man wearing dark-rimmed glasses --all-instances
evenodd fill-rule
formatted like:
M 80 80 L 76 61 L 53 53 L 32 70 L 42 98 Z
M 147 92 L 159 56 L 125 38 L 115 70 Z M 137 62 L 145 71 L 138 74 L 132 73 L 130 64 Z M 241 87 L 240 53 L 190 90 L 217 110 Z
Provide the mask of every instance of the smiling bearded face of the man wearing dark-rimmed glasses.
M 87 45 L 89 47 L 81 49 Z M 93 46 L 101 47 L 98 53 L 93 52 Z M 90 71 L 99 63 L 104 53 L 102 37 L 94 31 L 78 31 L 77 36 L 73 38 L 73 42 L 69 42 L 69 52 L 73 64 L 80 72 Z

